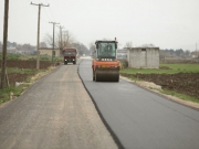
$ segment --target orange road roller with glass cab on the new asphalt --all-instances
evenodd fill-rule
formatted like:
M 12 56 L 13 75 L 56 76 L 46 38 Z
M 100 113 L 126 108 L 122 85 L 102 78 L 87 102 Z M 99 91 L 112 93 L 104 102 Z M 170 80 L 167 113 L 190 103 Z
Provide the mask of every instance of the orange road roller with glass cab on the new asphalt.
M 96 41 L 95 56 L 92 62 L 93 81 L 118 82 L 119 61 L 117 61 L 117 41 Z

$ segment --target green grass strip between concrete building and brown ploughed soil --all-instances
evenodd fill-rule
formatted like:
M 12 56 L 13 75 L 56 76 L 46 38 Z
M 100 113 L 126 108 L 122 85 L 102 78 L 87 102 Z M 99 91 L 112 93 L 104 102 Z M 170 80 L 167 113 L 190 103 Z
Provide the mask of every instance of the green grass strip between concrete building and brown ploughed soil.
M 177 73 L 199 73 L 199 64 L 160 64 L 159 66 L 167 66 L 170 70 L 158 68 L 124 68 L 121 73 L 127 74 L 177 74 Z

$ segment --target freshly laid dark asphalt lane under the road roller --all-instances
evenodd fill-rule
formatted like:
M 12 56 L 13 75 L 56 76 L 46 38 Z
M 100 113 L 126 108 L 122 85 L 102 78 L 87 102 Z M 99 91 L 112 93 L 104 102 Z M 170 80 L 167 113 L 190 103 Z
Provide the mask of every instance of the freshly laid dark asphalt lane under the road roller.
M 199 149 L 199 111 L 133 83 L 92 81 L 92 60 L 80 76 L 103 119 L 126 149 Z

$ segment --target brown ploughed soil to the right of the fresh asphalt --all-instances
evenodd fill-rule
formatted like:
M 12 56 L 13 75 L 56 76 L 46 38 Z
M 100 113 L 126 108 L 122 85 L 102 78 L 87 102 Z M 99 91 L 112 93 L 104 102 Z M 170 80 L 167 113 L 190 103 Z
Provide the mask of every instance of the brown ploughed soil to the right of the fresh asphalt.
M 134 77 L 146 82 L 153 82 L 163 89 L 175 91 L 199 99 L 199 73 L 179 74 L 121 74 L 126 77 Z

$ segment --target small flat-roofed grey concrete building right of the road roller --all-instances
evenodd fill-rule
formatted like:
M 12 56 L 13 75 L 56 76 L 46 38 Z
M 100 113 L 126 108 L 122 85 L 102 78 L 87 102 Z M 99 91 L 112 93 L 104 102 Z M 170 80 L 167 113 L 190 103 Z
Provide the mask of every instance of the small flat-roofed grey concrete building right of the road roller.
M 132 47 L 127 54 L 128 67 L 159 68 L 159 47 Z

